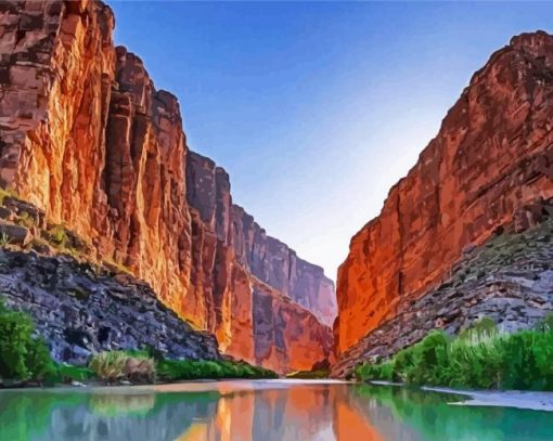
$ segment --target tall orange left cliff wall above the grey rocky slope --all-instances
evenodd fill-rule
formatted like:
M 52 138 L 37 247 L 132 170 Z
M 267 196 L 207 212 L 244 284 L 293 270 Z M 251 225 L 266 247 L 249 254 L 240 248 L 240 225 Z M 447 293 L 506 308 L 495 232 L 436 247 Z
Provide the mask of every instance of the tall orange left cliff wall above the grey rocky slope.
M 221 349 L 276 371 L 331 356 L 322 270 L 232 205 L 177 99 L 113 43 L 100 1 L 0 4 L 0 184 L 124 265 Z M 308 332 L 305 332 L 308 330 Z

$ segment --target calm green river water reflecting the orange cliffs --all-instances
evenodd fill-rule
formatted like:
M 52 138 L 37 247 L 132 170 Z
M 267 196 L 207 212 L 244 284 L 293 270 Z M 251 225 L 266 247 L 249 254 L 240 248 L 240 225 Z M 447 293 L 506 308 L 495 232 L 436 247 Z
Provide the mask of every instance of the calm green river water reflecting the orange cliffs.
M 553 440 L 553 413 L 458 400 L 279 380 L 0 391 L 0 440 Z

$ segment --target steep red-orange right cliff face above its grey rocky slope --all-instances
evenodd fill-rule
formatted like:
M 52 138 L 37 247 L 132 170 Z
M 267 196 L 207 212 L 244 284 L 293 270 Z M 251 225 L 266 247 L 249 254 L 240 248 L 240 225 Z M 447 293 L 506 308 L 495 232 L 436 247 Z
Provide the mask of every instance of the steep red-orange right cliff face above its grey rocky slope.
M 445 278 L 463 249 L 553 196 L 553 37 L 515 37 L 477 72 L 338 272 L 339 353 Z

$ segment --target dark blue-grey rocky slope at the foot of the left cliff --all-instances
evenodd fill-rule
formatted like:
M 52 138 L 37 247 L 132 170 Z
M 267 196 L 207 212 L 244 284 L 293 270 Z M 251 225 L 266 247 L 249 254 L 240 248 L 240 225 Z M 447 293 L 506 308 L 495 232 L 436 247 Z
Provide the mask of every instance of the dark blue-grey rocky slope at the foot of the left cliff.
M 100 351 L 143 347 L 172 359 L 220 359 L 215 337 L 192 329 L 147 284 L 70 256 L 0 250 L 0 295 L 30 314 L 60 362 L 86 364 Z

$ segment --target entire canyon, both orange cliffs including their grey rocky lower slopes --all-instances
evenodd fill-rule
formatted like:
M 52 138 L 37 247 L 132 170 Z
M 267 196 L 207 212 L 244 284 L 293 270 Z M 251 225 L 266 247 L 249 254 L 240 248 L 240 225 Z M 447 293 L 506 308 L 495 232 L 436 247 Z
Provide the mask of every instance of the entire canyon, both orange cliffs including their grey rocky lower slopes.
M 114 44 L 106 4 L 3 2 L 0 25 L 0 293 L 56 360 L 153 345 L 345 377 L 434 328 L 486 316 L 509 332 L 553 311 L 546 33 L 474 74 L 352 237 L 335 294 L 189 148 L 179 101 Z

